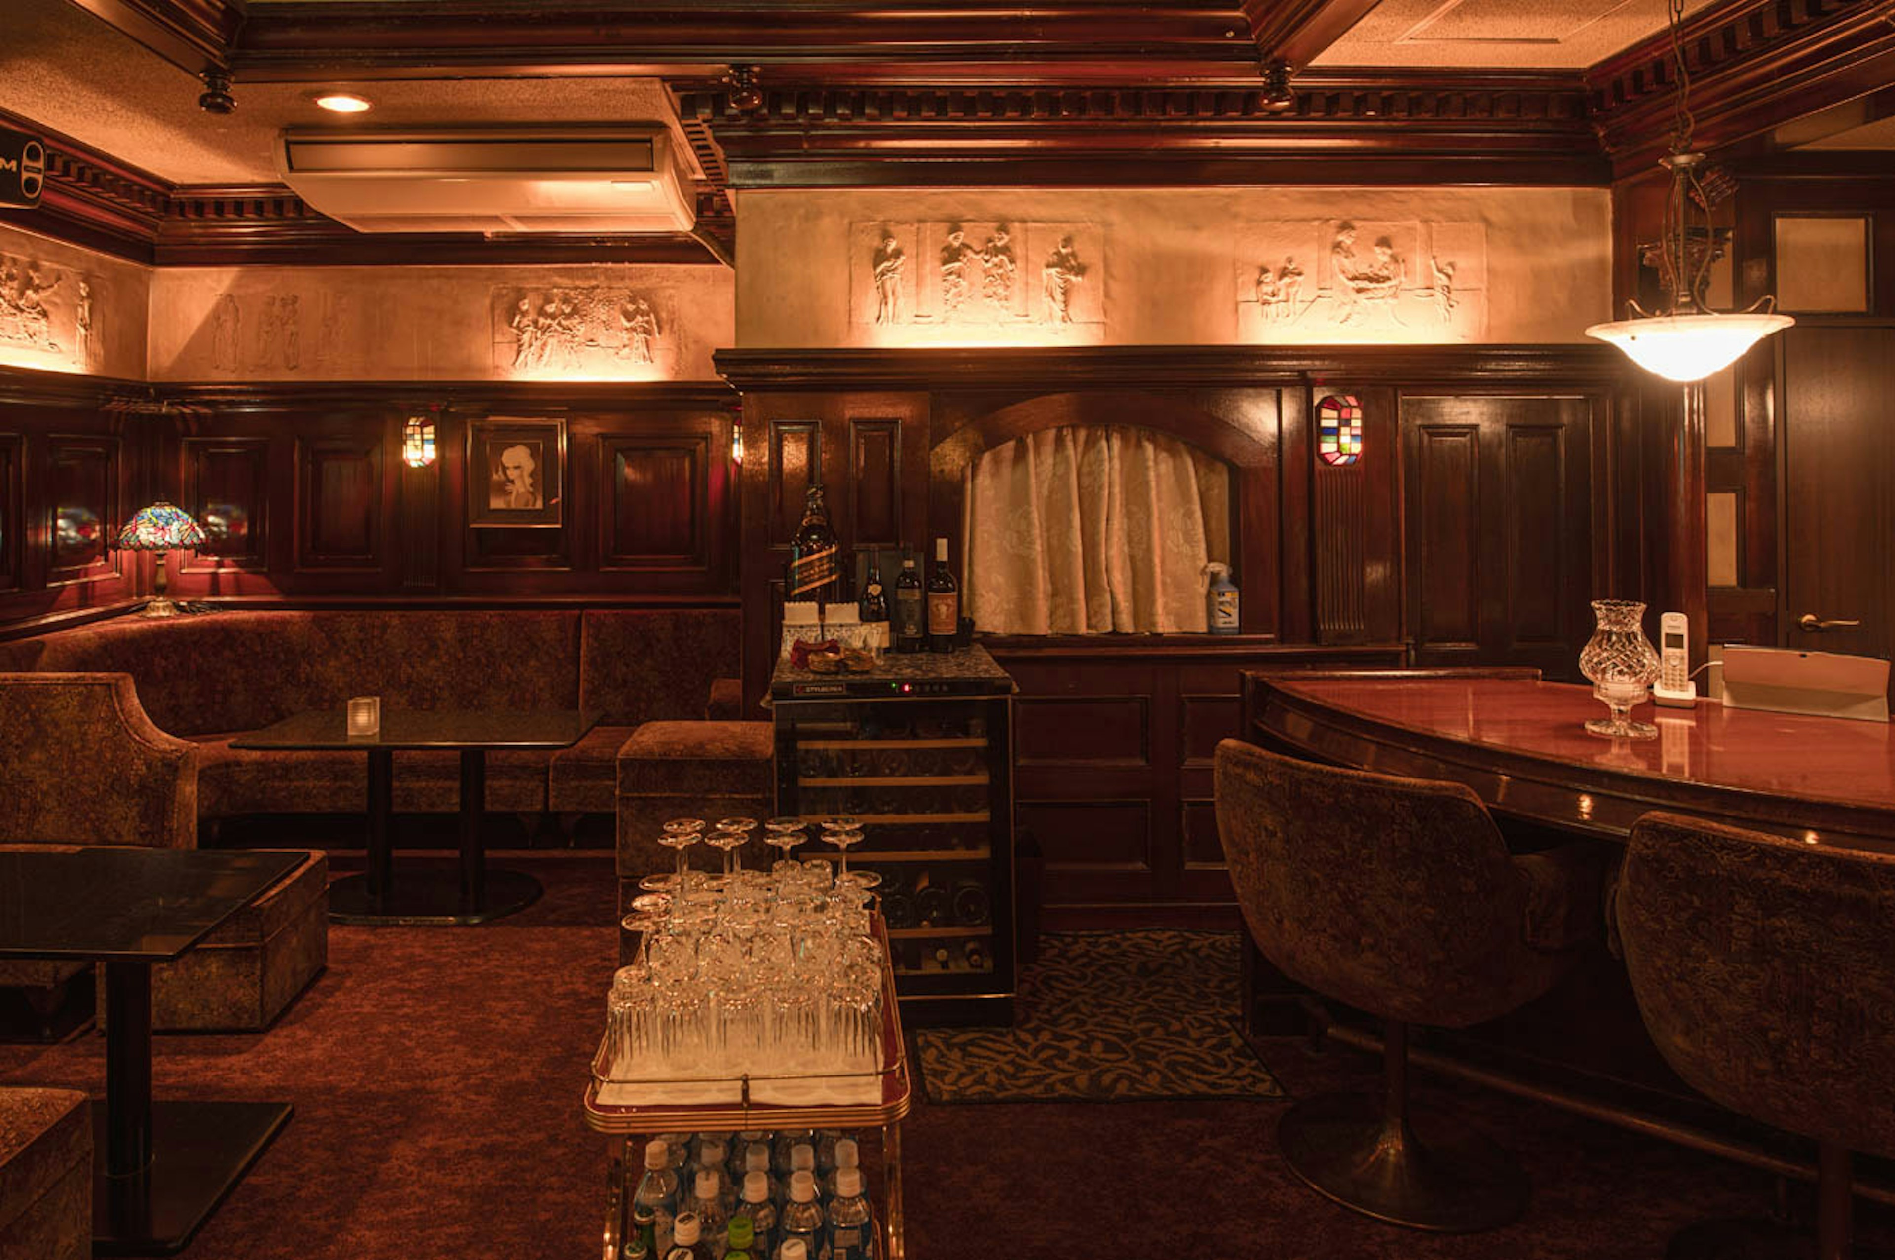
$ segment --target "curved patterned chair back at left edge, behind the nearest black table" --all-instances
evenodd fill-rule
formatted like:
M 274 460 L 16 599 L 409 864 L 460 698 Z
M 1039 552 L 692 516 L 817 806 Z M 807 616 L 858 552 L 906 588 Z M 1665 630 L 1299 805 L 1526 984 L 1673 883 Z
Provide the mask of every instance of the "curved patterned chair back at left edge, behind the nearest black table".
M 0 673 L 0 839 L 197 845 L 197 747 L 131 675 Z

